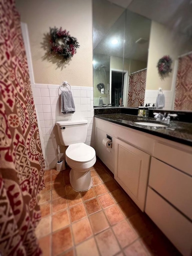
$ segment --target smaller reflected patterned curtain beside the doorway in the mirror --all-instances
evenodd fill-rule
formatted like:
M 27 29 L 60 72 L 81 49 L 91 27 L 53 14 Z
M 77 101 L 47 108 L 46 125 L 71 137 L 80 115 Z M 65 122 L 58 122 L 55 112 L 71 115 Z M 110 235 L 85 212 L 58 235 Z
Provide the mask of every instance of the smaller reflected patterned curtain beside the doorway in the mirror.
M 139 107 L 144 104 L 147 71 L 143 70 L 129 76 L 128 107 Z

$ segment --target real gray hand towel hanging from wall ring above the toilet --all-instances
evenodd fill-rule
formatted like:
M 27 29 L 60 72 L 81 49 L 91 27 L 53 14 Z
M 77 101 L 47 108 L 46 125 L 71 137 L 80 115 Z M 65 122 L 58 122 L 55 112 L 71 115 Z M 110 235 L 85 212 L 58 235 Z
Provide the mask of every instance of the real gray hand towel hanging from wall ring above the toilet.
M 61 112 L 63 114 L 74 113 L 75 104 L 73 101 L 73 95 L 70 90 L 64 90 L 60 95 L 61 99 Z

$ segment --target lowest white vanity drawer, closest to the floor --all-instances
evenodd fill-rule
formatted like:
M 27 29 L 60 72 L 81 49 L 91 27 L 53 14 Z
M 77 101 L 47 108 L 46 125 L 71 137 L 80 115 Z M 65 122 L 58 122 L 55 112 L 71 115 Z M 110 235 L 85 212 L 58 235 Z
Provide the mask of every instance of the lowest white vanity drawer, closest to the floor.
M 145 212 L 182 255 L 191 255 L 192 223 L 149 187 Z

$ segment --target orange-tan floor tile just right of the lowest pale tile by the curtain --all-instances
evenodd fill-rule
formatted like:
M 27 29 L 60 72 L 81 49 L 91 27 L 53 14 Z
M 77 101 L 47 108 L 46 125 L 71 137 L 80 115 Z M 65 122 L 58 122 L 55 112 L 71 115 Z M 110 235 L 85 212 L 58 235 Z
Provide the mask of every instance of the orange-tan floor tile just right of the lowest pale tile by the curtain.
M 52 215 L 52 232 L 66 227 L 70 224 L 69 214 L 67 210 L 57 212 Z

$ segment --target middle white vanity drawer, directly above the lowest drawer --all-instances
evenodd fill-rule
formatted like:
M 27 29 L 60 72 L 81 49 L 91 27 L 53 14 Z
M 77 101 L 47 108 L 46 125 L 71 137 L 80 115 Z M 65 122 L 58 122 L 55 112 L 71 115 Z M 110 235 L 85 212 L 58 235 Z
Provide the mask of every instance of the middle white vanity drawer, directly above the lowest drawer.
M 192 177 L 152 157 L 149 185 L 192 219 Z

